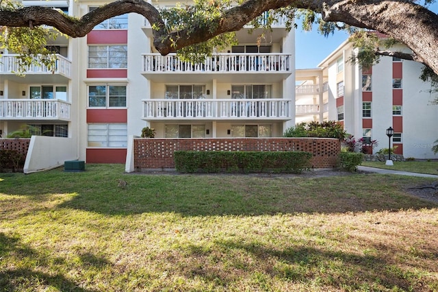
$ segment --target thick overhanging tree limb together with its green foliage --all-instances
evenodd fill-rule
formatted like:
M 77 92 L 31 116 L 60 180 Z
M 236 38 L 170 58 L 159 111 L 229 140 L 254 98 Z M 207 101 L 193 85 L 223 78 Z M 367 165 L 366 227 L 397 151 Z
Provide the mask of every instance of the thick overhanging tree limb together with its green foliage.
M 426 0 L 424 5 L 430 2 Z M 86 36 L 95 25 L 114 16 L 129 12 L 141 14 L 153 25 L 153 45 L 162 55 L 177 50 L 192 55 L 209 54 L 213 47 L 220 49 L 232 44 L 233 34 L 229 33 L 242 29 L 247 23 L 260 26 L 257 17 L 266 11 L 271 11 L 268 23 L 264 25 L 266 29 L 279 16 L 287 17 L 289 27 L 297 16 L 302 16 L 307 28 L 318 23 L 324 34 L 330 34 L 334 29 L 356 32 L 355 27 L 381 32 L 413 51 L 406 58 L 422 62 L 438 73 L 438 16 L 413 1 L 197 0 L 193 6 L 157 10 L 143 0 L 118 0 L 79 19 L 47 7 L 23 8 L 10 3 L 1 2 L 0 26 L 34 29 L 49 25 L 74 38 Z

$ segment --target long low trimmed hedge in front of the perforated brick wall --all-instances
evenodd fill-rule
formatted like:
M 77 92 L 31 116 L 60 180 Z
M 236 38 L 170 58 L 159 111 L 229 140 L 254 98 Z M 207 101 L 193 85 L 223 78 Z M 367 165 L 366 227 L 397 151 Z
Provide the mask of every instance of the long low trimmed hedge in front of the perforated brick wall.
M 175 168 L 183 173 L 301 173 L 310 169 L 305 151 L 175 151 Z

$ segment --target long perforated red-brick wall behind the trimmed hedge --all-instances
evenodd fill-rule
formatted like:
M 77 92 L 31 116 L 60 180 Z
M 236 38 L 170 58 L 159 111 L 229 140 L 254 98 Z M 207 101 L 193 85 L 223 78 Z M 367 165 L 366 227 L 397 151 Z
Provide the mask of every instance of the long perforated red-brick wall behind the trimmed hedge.
M 341 143 L 333 138 L 136 138 L 134 168 L 175 169 L 173 152 L 195 151 L 307 151 L 313 168 L 336 167 Z

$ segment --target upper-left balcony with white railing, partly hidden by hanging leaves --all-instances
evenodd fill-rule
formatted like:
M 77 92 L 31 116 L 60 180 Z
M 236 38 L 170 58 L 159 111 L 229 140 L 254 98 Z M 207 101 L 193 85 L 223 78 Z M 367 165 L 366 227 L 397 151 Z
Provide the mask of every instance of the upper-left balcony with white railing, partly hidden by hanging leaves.
M 4 54 L 0 58 L 0 74 L 10 75 L 9 79 L 15 82 L 66 82 L 71 78 L 71 62 L 64 56 L 56 55 L 55 68 L 49 70 L 47 66 L 31 65 L 23 74 L 24 77 L 18 76 L 18 55 Z

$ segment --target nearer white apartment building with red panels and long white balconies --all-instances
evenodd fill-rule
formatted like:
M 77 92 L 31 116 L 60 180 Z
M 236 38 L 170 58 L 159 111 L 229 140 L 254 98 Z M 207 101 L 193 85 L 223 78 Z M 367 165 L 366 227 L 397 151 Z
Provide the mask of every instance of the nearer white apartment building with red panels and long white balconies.
M 72 16 L 107 3 L 22 2 Z M 294 32 L 279 21 L 260 43 L 261 31 L 248 29 L 237 32 L 240 45 L 202 64 L 160 56 L 151 24 L 134 13 L 96 25 L 84 38 L 50 43 L 57 53 L 54 72 L 36 66 L 17 76 L 16 56 L 5 51 L 0 130 L 4 137 L 31 125 L 36 134 L 73 138 L 80 160 L 117 163 L 125 163 L 128 139 L 145 126 L 157 138 L 281 136 L 294 125 Z

